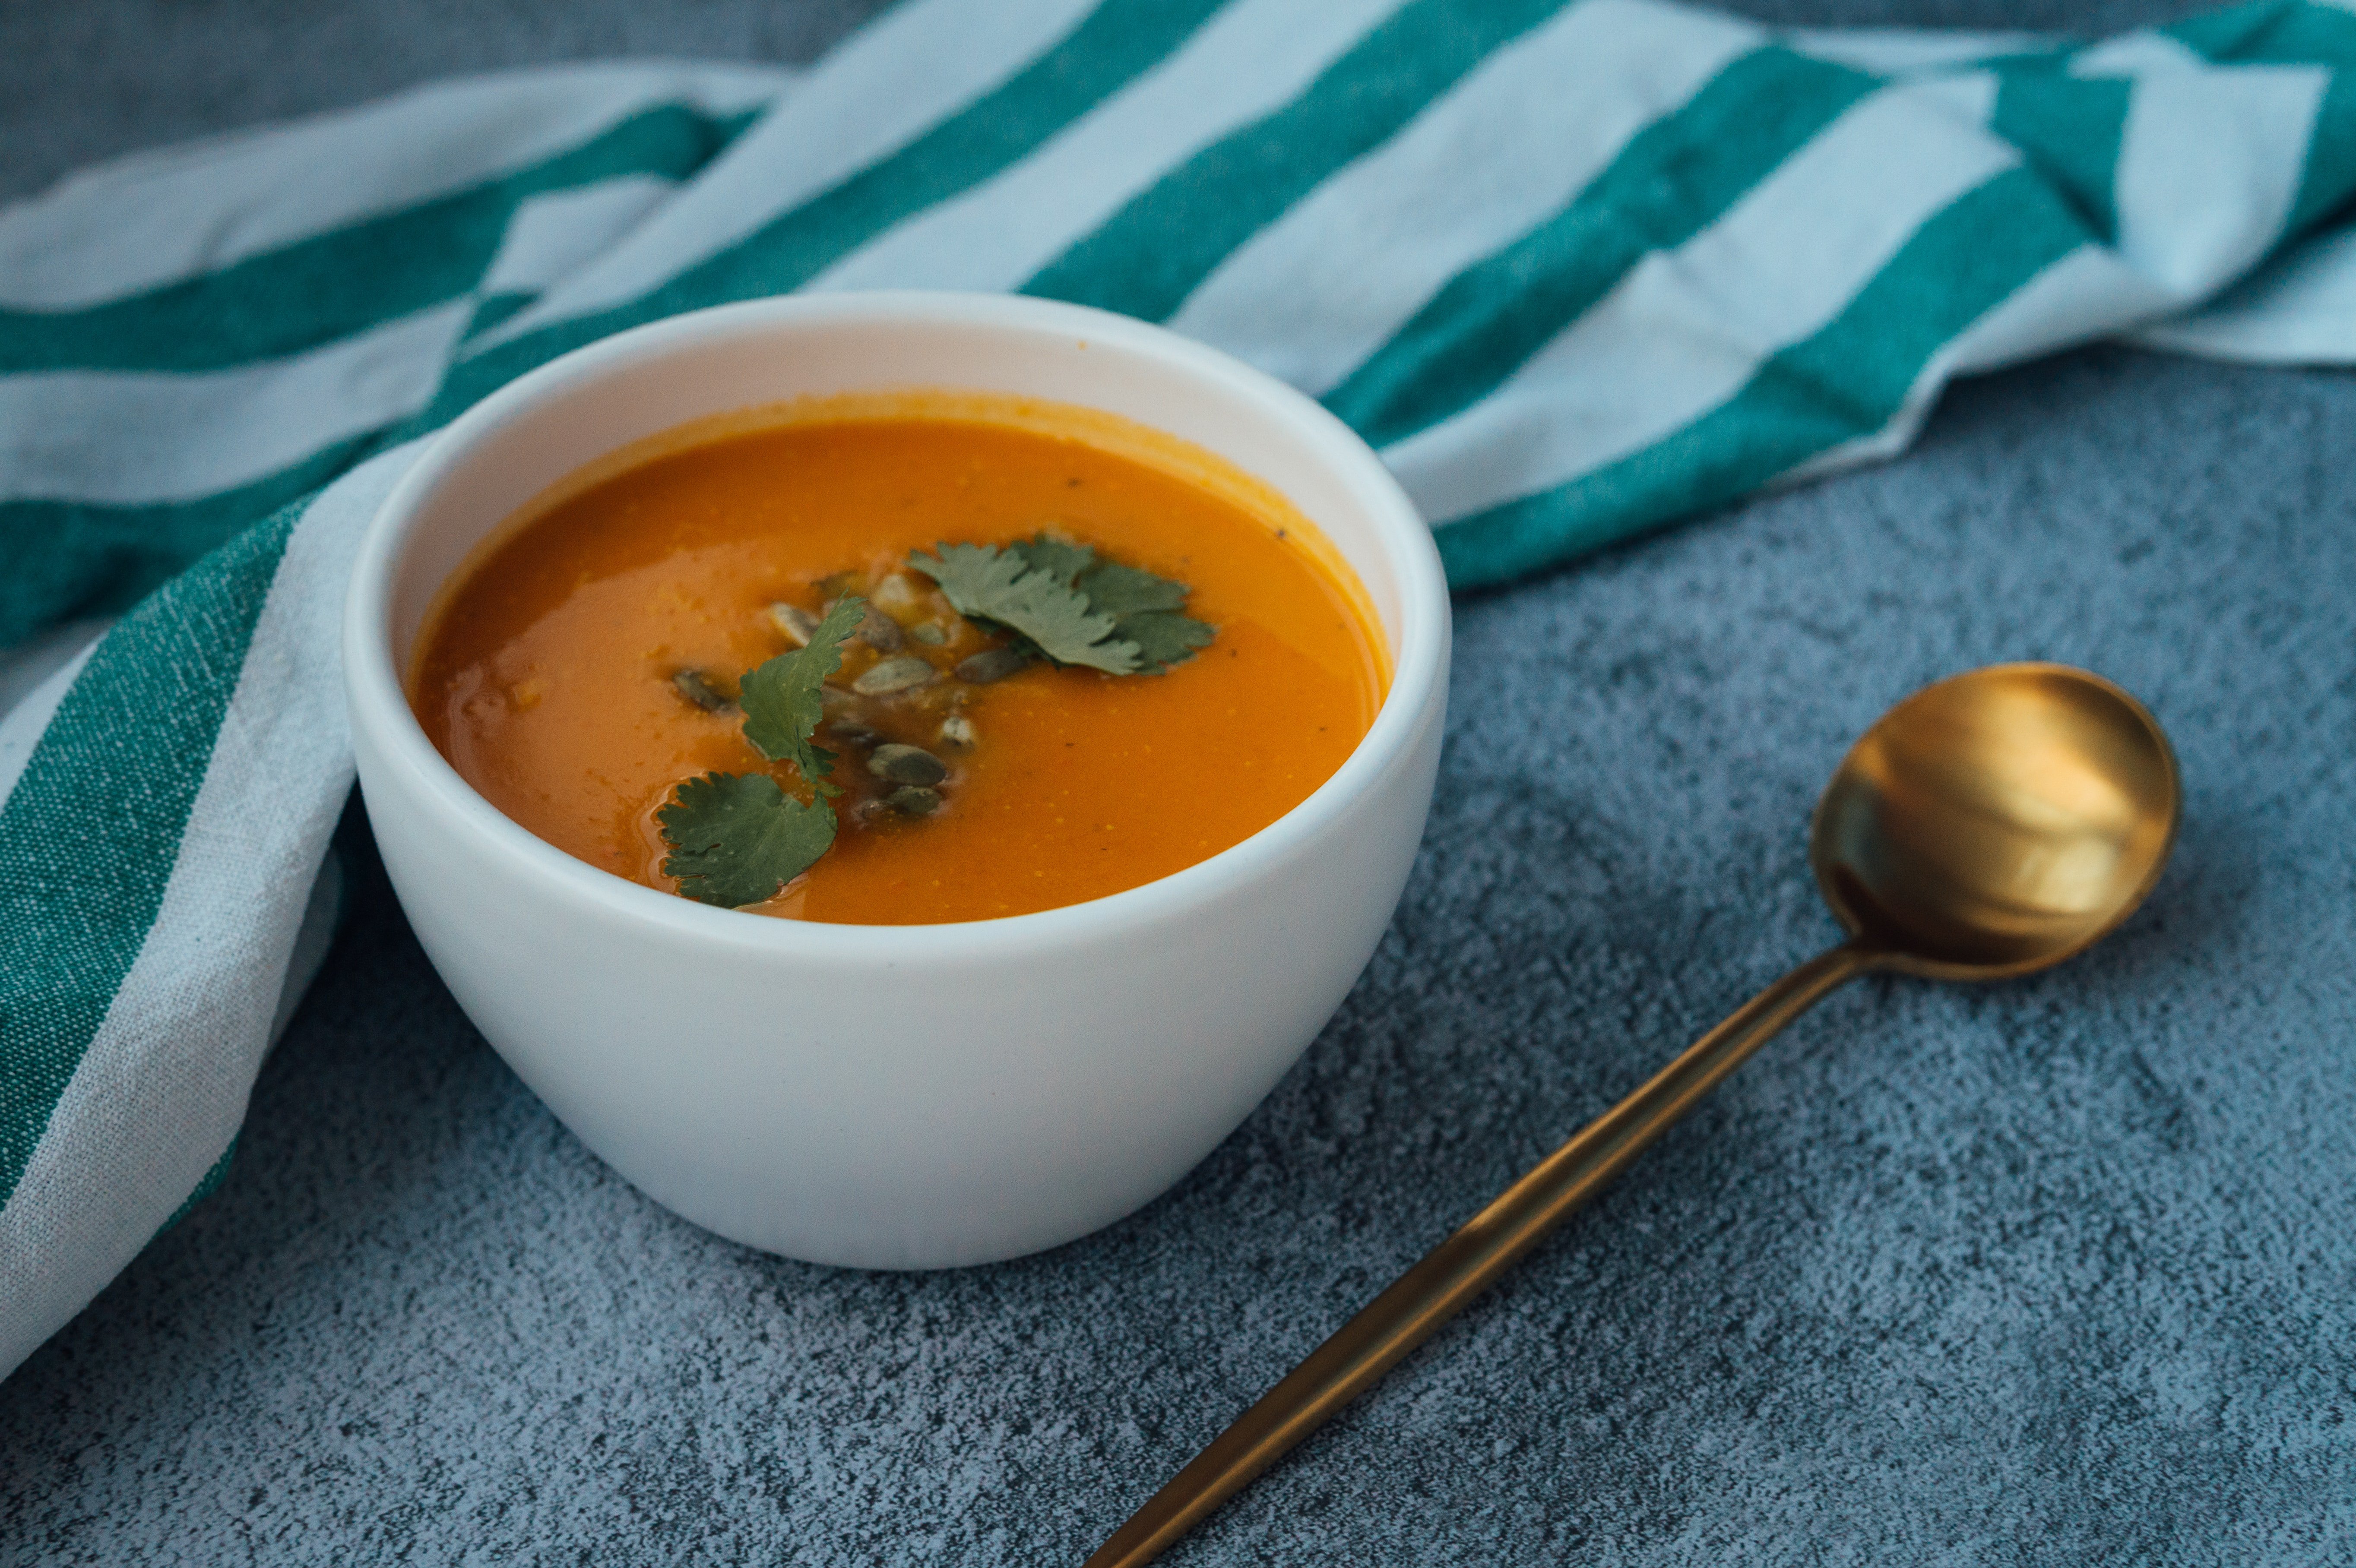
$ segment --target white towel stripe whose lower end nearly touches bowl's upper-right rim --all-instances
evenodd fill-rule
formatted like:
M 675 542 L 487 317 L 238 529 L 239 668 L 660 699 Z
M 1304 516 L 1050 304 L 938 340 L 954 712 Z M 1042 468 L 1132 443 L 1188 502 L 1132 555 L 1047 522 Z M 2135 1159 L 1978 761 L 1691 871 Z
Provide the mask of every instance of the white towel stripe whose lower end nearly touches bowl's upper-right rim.
M 1169 325 L 1324 393 L 1758 42 L 1682 7 L 1574 5 L 1246 240 Z

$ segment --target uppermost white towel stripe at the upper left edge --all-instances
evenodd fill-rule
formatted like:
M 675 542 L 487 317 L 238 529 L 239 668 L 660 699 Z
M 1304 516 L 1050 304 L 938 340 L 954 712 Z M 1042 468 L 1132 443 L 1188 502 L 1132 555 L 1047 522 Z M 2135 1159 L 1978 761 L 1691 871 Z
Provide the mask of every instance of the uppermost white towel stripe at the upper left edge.
M 514 71 L 104 162 L 0 210 L 0 306 L 153 290 L 530 167 L 655 104 L 730 113 L 789 80 L 770 66 Z

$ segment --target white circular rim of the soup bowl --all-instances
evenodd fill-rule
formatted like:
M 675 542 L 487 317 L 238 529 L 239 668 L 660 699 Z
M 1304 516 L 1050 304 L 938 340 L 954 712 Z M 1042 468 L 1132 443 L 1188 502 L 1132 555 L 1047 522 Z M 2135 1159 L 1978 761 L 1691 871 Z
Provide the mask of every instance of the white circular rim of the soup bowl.
M 1305 800 L 1218 855 L 1105 897 L 985 921 L 851 925 L 744 918 L 735 909 L 683 899 L 575 859 L 499 812 L 426 739 L 393 669 L 393 584 L 424 504 L 474 447 L 551 400 L 744 332 L 801 325 L 997 327 L 1077 337 L 1159 360 L 1204 384 L 1206 391 L 1291 426 L 1293 438 L 1364 506 L 1376 549 L 1399 582 L 1390 690 L 1366 735 Z M 1077 403 L 1088 407 L 1086 400 Z M 1150 419 L 1138 424 L 1152 426 Z M 1159 925 L 1249 885 L 1411 763 L 1423 723 L 1447 695 L 1449 640 L 1447 574 L 1430 527 L 1374 450 L 1312 398 L 1218 348 L 1093 306 L 1011 294 L 876 290 L 747 299 L 629 327 L 516 377 L 429 436 L 363 532 L 344 600 L 344 687 L 353 737 L 370 735 L 382 746 L 384 760 L 410 775 L 412 793 L 434 817 L 499 855 L 516 873 L 551 885 L 558 897 L 693 939 L 707 951 L 900 965 L 916 958 L 994 958 L 1041 946 L 1096 944 Z

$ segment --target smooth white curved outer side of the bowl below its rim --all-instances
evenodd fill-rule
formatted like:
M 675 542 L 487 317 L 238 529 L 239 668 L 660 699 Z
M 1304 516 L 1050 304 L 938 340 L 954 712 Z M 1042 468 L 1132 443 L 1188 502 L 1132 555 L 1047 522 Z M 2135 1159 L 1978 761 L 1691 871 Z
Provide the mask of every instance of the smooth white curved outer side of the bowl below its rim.
M 1251 1114 L 1390 923 L 1440 732 L 1230 897 L 1020 961 L 714 956 L 507 878 L 365 739 L 360 777 L 434 968 L 589 1149 L 730 1241 L 924 1269 L 1110 1224 Z

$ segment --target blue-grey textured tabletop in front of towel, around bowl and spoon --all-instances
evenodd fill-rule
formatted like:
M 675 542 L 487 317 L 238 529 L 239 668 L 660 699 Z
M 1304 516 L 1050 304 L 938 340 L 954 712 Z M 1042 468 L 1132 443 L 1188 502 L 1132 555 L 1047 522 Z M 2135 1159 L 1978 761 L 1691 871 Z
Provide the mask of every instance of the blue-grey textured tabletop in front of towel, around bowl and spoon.
M 2356 1561 L 2351 450 L 2349 377 L 2094 351 L 1463 600 L 1432 831 L 1343 1015 L 1171 1196 L 1015 1264 L 671 1220 L 363 857 L 224 1189 L 0 1382 L 0 1561 L 1077 1561 L 1828 939 L 1816 784 L 2007 657 L 2177 739 L 2153 906 L 2047 977 L 1838 996 L 1169 1561 Z

